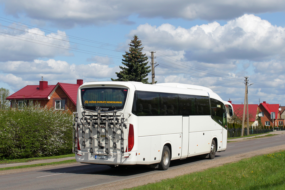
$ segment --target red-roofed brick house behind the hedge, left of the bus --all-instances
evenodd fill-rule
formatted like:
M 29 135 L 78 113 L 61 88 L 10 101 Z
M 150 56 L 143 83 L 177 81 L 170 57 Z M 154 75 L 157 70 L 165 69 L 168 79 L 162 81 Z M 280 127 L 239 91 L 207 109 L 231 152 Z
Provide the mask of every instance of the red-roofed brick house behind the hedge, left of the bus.
M 75 112 L 77 91 L 82 84 L 82 79 L 78 79 L 76 84 L 58 82 L 56 85 L 48 85 L 48 81 L 42 80 L 39 85 L 27 85 L 6 99 L 11 102 L 11 109 L 39 103 L 41 107 Z

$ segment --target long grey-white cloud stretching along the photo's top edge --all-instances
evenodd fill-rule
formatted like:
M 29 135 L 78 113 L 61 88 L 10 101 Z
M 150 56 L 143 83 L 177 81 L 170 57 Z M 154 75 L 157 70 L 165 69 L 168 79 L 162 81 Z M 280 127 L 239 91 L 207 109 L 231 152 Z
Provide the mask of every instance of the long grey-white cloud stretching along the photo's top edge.
M 162 17 L 164 19 L 183 18 L 188 20 L 233 19 L 245 13 L 266 13 L 284 11 L 282 0 L 180 0 L 180 1 L 43 1 L 43 0 L 0 0 L 7 14 L 19 17 L 25 14 L 37 22 L 49 21 L 61 26 L 125 23 L 128 18 L 138 15 L 144 18 Z

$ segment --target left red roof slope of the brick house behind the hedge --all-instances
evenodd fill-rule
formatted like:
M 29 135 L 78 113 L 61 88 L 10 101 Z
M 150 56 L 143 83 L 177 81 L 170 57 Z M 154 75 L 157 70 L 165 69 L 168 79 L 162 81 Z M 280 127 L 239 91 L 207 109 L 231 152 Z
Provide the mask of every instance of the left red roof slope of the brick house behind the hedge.
M 25 100 L 25 99 L 48 99 L 56 85 L 48 85 L 46 89 L 40 90 L 40 85 L 27 85 L 11 96 L 7 100 Z

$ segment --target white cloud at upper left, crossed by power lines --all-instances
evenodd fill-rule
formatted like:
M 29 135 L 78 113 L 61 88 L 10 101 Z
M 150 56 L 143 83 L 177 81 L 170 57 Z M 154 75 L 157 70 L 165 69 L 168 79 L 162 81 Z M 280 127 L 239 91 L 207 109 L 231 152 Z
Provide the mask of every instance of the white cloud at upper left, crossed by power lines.
M 15 26 L 13 26 L 15 27 Z M 31 61 L 36 58 L 53 58 L 55 56 L 71 56 L 66 50 L 70 47 L 65 32 L 58 30 L 60 36 L 54 33 L 45 34 L 37 29 L 18 28 L 0 29 L 0 61 Z M 58 48 L 54 48 L 58 47 Z

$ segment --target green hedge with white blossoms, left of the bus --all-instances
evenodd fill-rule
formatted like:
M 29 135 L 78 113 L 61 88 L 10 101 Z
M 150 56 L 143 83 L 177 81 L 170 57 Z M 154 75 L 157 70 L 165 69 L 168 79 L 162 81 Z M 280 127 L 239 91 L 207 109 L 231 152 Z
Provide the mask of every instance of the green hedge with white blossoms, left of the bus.
M 0 159 L 72 152 L 72 114 L 39 106 L 0 111 Z

